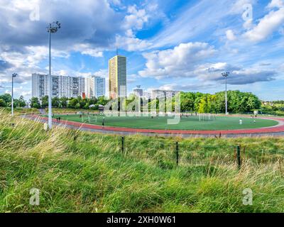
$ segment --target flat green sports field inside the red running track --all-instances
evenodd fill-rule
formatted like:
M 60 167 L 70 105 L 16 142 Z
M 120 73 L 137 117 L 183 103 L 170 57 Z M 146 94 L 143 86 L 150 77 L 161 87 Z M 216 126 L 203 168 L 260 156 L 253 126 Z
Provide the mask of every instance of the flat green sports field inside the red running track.
M 82 123 L 90 123 L 102 126 L 104 116 L 91 116 L 89 122 L 87 115 L 83 116 L 83 120 L 79 114 L 72 115 L 55 115 L 54 118 L 60 117 L 61 120 L 76 121 Z M 105 116 L 104 126 L 115 126 L 124 128 L 148 128 L 148 129 L 178 129 L 178 130 L 234 130 L 249 128 L 265 128 L 278 125 L 278 121 L 261 119 L 261 118 L 241 118 L 243 123 L 239 124 L 239 117 L 233 116 L 214 116 L 210 120 L 201 120 L 196 116 L 182 117 L 180 123 L 169 125 L 168 117 L 147 117 L 147 116 Z M 254 122 L 256 120 L 256 122 Z

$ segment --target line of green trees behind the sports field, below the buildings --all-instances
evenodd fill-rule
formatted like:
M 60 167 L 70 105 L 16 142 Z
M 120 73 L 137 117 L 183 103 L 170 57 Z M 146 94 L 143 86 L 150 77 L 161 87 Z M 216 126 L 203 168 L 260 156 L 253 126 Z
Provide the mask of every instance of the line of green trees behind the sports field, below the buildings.
M 249 113 L 253 109 L 261 109 L 261 100 L 251 92 L 240 92 L 240 91 L 228 91 L 228 111 L 231 114 L 238 113 Z M 131 103 L 135 99 L 135 96 L 129 96 L 126 101 L 127 104 Z M 152 102 L 158 105 L 158 99 L 148 100 L 149 106 Z M 173 110 L 175 107 L 175 98 L 172 100 Z M 58 98 L 52 99 L 52 105 L 55 108 L 70 108 L 70 109 L 99 109 L 99 105 L 106 105 L 109 99 L 102 96 L 91 99 L 82 99 L 81 96 L 77 98 Z M 167 105 L 165 102 L 165 105 Z M 143 99 L 141 99 L 141 104 Z M 41 99 L 38 97 L 32 97 L 30 100 L 32 108 L 44 109 L 48 107 L 48 96 L 43 96 Z M 11 95 L 4 94 L 0 96 L 0 106 L 11 106 Z M 19 99 L 14 99 L 14 106 L 23 107 L 26 106 L 26 101 L 21 96 Z M 180 94 L 180 110 L 182 112 L 192 111 L 198 113 L 224 113 L 225 112 L 225 92 L 217 92 L 215 94 L 204 94 L 201 92 L 181 92 Z

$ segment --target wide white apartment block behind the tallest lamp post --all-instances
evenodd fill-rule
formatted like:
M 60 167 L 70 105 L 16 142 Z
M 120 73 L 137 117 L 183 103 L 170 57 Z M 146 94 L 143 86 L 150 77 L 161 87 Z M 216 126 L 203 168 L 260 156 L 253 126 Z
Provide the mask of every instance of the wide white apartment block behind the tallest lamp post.
M 48 95 L 49 79 L 46 74 L 32 74 L 32 96 L 41 98 Z M 52 76 L 52 97 L 77 97 L 85 92 L 83 77 Z

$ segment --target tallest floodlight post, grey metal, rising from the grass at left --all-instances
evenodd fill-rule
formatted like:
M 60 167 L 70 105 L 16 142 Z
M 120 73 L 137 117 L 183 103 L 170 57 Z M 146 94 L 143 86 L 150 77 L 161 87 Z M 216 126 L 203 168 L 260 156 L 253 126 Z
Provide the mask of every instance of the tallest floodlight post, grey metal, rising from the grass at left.
M 52 112 L 52 99 L 51 99 L 51 86 L 52 86 L 52 78 L 51 78 L 51 33 L 56 33 L 60 28 L 60 23 L 58 21 L 50 23 L 47 27 L 47 31 L 49 33 L 49 89 L 48 89 L 48 128 L 53 127 L 53 112 Z

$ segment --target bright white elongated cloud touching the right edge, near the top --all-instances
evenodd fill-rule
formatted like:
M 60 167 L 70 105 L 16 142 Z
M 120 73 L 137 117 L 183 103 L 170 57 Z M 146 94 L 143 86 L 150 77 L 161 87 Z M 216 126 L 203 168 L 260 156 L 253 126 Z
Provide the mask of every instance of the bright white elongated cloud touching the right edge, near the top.
M 284 22 L 284 8 L 278 11 L 271 11 L 266 16 L 261 18 L 258 25 L 250 31 L 244 33 L 244 37 L 252 42 L 260 42 L 265 40 L 268 35 L 278 29 Z

